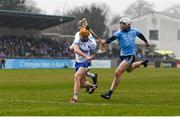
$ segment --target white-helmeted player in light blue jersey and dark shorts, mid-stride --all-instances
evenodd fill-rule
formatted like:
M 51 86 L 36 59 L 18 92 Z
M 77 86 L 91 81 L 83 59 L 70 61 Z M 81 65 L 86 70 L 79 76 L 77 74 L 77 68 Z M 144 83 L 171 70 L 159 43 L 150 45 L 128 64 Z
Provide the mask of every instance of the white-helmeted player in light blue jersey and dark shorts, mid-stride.
M 144 41 L 145 47 L 149 47 L 149 43 L 144 37 L 144 35 L 140 33 L 137 29 L 131 27 L 132 21 L 129 18 L 121 18 L 119 23 L 120 29 L 116 31 L 112 35 L 112 37 L 106 40 L 101 40 L 101 43 L 108 44 L 117 39 L 120 48 L 120 59 L 122 60 L 122 62 L 119 64 L 115 71 L 115 77 L 113 79 L 110 90 L 101 95 L 101 97 L 103 97 L 104 99 L 111 98 L 112 93 L 118 87 L 120 78 L 125 71 L 131 72 L 134 69 L 140 67 L 141 65 L 147 67 L 148 63 L 147 59 L 135 62 L 136 37 L 139 37 L 141 40 Z

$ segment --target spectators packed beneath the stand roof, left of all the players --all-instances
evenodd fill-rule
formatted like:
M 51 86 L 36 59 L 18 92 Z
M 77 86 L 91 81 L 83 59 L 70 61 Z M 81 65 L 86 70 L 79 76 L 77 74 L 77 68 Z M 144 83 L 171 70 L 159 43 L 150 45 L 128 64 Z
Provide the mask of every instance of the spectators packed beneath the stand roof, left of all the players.
M 0 51 L 6 57 L 68 57 L 67 41 L 52 40 L 49 38 L 27 38 L 16 36 L 0 37 Z

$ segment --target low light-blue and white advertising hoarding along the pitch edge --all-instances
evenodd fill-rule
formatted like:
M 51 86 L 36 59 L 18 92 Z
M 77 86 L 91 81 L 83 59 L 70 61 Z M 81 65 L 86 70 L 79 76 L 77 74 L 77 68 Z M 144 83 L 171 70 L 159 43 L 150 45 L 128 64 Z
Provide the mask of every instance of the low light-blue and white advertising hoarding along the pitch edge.
M 55 69 L 74 68 L 75 61 L 71 59 L 6 59 L 6 69 Z M 93 68 L 110 68 L 111 60 L 93 60 Z

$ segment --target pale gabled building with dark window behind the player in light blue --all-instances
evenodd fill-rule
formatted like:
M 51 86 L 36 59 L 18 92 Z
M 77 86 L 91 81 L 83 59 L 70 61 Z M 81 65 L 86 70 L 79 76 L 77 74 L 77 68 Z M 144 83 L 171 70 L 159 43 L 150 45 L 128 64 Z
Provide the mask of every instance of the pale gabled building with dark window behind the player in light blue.
M 180 17 L 164 13 L 150 14 L 132 19 L 132 27 L 137 28 L 157 50 L 170 50 L 180 58 Z M 119 29 L 119 23 L 110 28 L 111 34 Z M 143 44 L 137 40 L 137 44 Z

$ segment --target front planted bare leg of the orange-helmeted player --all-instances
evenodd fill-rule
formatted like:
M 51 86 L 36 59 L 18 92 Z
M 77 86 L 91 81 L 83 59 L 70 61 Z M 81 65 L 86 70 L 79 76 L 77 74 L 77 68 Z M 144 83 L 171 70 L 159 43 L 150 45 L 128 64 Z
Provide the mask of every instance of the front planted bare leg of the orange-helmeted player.
M 78 99 L 78 93 L 81 87 L 81 78 L 86 76 L 87 70 L 83 67 L 80 67 L 74 76 L 74 94 L 71 99 L 71 103 L 76 103 Z

